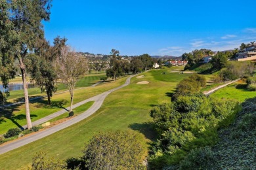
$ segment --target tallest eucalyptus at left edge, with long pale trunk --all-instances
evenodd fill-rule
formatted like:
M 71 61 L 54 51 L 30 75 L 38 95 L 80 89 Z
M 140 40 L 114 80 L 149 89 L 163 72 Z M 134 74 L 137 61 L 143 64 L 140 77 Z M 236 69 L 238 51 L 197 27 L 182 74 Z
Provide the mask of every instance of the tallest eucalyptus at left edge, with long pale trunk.
M 12 64 L 15 59 L 19 61 L 24 86 L 26 120 L 28 129 L 31 129 L 24 61 L 29 53 L 33 53 L 39 39 L 44 37 L 42 21 L 50 19 L 51 0 L 0 0 L 0 8 L 1 61 L 9 64 Z M 8 78 L 8 76 L 5 77 Z

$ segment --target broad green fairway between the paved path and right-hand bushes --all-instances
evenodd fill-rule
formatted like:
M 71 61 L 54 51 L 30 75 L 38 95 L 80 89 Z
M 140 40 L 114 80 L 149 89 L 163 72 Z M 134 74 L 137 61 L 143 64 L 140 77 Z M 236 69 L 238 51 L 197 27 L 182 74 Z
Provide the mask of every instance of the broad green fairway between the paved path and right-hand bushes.
M 117 92 L 111 93 L 102 107 L 93 115 L 58 133 L 45 137 L 26 146 L 3 154 L 0 169 L 17 169 L 26 167 L 39 150 L 48 151 L 51 156 L 66 159 L 81 156 L 84 143 L 89 141 L 97 131 L 133 129 L 143 133 L 144 144 L 156 137 L 149 111 L 153 105 L 169 102 L 166 93 L 175 89 L 177 82 L 188 74 L 167 73 L 157 70 L 142 73 L 144 78 L 132 78 L 131 84 Z M 150 84 L 136 84 L 147 80 Z M 10 165 L 8 160 L 14 164 Z

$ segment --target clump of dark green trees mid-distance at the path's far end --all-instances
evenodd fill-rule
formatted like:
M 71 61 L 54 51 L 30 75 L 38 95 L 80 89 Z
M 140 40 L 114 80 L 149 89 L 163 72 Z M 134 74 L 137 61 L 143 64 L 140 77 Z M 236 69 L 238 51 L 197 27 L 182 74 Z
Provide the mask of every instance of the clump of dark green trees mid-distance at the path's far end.
M 152 69 L 154 65 L 154 59 L 148 54 L 132 57 L 129 61 L 128 59 L 122 59 L 119 56 L 118 50 L 112 49 L 110 56 L 110 68 L 106 70 L 106 76 L 115 80 L 117 77 L 128 74 L 130 71 L 136 74 Z

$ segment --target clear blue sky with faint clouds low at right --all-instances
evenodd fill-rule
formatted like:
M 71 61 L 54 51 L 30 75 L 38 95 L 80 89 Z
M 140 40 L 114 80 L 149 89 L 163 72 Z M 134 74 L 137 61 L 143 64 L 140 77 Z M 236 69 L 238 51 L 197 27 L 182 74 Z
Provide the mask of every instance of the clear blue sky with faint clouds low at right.
M 75 50 L 180 56 L 194 49 L 229 50 L 256 41 L 255 0 L 53 0 L 45 37 L 66 37 Z

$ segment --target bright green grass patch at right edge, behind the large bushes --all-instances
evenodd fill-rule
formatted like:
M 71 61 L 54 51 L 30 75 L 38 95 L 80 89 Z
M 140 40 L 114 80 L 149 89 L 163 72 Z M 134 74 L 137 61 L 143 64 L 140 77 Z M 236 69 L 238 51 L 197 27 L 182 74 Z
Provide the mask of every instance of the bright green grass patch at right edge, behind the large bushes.
M 237 99 L 240 102 L 243 102 L 245 99 L 249 99 L 256 96 L 255 92 L 251 92 L 246 89 L 246 84 L 243 82 L 236 82 L 217 90 L 212 93 L 211 96 L 226 98 L 226 99 Z

